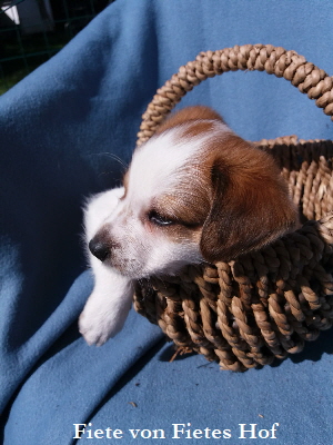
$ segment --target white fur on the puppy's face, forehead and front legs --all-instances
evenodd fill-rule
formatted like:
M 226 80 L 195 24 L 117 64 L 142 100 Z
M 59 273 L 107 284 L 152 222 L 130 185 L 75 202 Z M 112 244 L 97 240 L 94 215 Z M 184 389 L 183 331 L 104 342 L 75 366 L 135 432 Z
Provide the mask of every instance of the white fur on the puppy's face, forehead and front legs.
M 180 243 L 164 237 L 161 229 L 152 230 L 144 222 L 144 212 L 162 194 L 181 199 L 179 181 L 195 181 L 195 166 L 200 165 L 205 142 L 215 132 L 221 136 L 231 130 L 216 121 L 212 131 L 191 139 L 180 138 L 179 131 L 172 128 L 135 150 L 123 199 L 120 198 L 124 190 L 119 188 L 99 194 L 88 202 L 87 244 L 101 228 L 119 244 L 110 263 L 101 263 L 88 251 L 95 285 L 79 328 L 90 345 L 102 345 L 122 328 L 131 306 L 132 279 L 175 274 L 185 264 L 202 260 L 198 243 Z

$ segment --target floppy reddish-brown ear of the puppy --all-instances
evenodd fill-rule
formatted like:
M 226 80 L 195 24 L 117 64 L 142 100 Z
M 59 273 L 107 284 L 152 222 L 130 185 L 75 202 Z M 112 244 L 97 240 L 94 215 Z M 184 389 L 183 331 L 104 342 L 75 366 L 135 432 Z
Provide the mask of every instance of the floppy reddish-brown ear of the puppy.
M 211 210 L 200 243 L 210 263 L 260 249 L 297 225 L 273 158 L 238 136 L 222 142 L 211 167 Z

